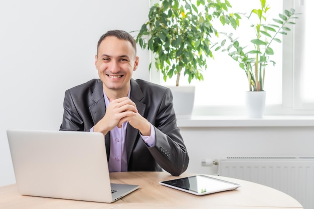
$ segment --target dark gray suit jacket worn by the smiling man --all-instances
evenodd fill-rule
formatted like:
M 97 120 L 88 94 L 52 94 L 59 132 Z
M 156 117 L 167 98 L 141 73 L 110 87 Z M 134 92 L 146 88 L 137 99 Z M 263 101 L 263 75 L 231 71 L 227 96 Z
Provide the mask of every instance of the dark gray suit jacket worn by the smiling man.
M 131 79 L 130 99 L 139 114 L 155 129 L 155 146 L 147 147 L 139 131 L 131 125 L 126 129 L 128 171 L 161 171 L 179 176 L 189 163 L 173 109 L 169 88 L 140 79 Z M 105 115 L 105 101 L 100 79 L 73 87 L 65 92 L 64 114 L 60 130 L 89 131 Z M 107 158 L 110 153 L 110 134 L 105 136 Z

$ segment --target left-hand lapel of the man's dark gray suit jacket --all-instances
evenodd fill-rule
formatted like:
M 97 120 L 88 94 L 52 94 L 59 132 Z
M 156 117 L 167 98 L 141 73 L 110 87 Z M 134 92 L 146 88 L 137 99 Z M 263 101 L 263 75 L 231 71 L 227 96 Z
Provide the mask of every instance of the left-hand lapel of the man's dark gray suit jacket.
M 103 87 L 102 82 L 98 80 L 95 85 L 94 91 L 91 95 L 91 99 L 95 102 L 89 107 L 90 114 L 93 118 L 94 125 L 101 119 L 106 113 L 106 105 L 103 97 Z M 107 152 L 107 160 L 109 160 L 110 154 L 110 132 L 108 132 L 105 136 L 105 144 L 106 144 L 106 152 Z

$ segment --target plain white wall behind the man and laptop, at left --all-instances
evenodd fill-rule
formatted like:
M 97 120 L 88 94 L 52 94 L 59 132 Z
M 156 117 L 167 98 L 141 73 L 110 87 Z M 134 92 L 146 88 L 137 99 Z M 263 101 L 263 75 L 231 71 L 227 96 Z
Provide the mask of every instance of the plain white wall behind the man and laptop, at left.
M 6 130 L 59 130 L 65 90 L 98 78 L 99 37 L 139 30 L 148 10 L 147 0 L 0 2 L 0 186 L 15 182 Z M 133 78 L 148 80 L 149 54 L 137 55 Z

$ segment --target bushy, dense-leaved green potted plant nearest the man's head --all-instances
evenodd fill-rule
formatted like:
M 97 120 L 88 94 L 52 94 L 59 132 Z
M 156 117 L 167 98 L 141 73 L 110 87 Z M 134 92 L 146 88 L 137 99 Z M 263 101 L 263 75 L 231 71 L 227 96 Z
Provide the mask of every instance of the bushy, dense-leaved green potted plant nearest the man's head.
M 148 21 L 142 25 L 136 37 L 139 46 L 154 55 L 149 70 L 154 63 L 165 81 L 176 76 L 176 87 L 182 74 L 189 83 L 193 79 L 202 81 L 202 71 L 207 68 L 206 58 L 213 57 L 211 37 L 218 35 L 213 21 L 218 19 L 222 25 L 233 28 L 239 24 L 240 16 L 226 14 L 230 7 L 227 0 L 163 0 L 153 5 L 149 9 Z M 177 90 L 172 91 L 175 94 Z M 190 107 L 193 108 L 194 92 L 192 97 L 185 97 L 184 102 L 174 101 L 177 116 L 180 115 L 177 110 L 182 104 L 192 102 Z M 174 95 L 174 100 L 177 98 Z M 186 112 L 184 117 L 190 117 L 192 109 L 183 109 Z

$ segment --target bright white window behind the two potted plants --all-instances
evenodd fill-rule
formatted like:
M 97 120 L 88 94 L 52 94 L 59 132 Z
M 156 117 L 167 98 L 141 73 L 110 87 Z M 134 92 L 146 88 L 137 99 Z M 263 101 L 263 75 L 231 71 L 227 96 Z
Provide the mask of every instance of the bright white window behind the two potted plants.
M 249 13 L 253 8 L 259 8 L 258 0 L 229 0 L 232 11 L 238 13 Z M 311 1 L 278 0 L 268 1 L 270 5 L 270 16 L 278 19 L 278 13 L 284 9 L 294 8 L 297 13 L 302 13 L 295 20 L 296 25 L 289 25 L 292 29 L 286 36 L 277 37 L 282 40 L 281 44 L 273 43 L 274 55 L 272 60 L 275 66 L 268 65 L 265 74 L 264 90 L 266 91 L 266 115 L 290 115 L 314 114 L 314 87 L 311 79 L 314 72 L 310 65 L 310 42 L 306 26 L 306 15 L 310 15 L 313 8 Z M 305 10 L 307 8 L 307 10 Z M 310 20 L 310 19 L 309 19 Z M 253 30 L 242 20 L 240 28 L 234 33 L 239 41 L 251 40 L 254 36 Z M 238 115 L 244 111 L 244 92 L 248 90 L 247 79 L 244 71 L 238 63 L 233 61 L 226 53 L 215 52 L 215 60 L 208 60 L 208 69 L 203 71 L 204 81 L 192 81 L 196 86 L 195 111 L 197 115 Z M 153 73 L 153 71 L 151 71 Z M 175 83 L 175 78 L 167 80 L 153 80 L 162 85 Z M 153 75 L 152 75 L 153 77 Z M 181 78 L 180 85 L 189 85 L 186 78 Z

